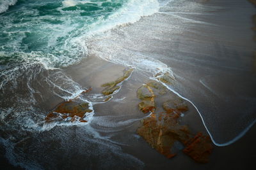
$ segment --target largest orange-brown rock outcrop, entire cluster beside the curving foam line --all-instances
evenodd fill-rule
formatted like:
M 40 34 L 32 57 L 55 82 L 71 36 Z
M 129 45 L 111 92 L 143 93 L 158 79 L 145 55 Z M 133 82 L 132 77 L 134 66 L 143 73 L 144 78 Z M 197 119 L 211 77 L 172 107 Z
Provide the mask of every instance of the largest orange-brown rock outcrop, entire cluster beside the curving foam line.
M 156 98 L 159 99 L 163 94 L 166 94 L 166 87 L 154 80 L 148 81 L 137 90 L 137 96 L 141 99 L 138 104 L 139 109 L 143 113 L 151 113 L 149 117 L 141 121 L 142 125 L 137 130 L 138 134 L 152 148 L 168 158 L 177 154 L 174 151 L 175 143 L 178 142 L 184 145 L 183 152 L 189 157 L 196 162 L 206 163 L 212 152 L 211 139 L 202 133 L 193 137 L 188 125 L 180 124 L 182 113 L 189 110 L 186 101 L 180 97 L 168 94 L 168 99 L 162 104 L 163 108 L 156 108 Z

